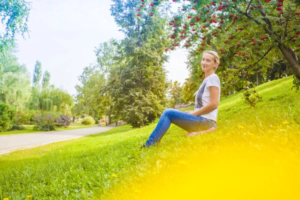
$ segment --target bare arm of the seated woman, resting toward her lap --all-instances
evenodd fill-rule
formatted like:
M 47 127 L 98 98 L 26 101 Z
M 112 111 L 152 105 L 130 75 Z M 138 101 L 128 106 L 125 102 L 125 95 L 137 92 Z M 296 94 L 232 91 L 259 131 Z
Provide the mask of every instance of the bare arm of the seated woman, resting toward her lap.
M 216 86 L 210 86 L 209 87 L 210 92 L 210 100 L 209 103 L 203 107 L 201 107 L 199 110 L 189 112 L 190 114 L 199 116 L 202 114 L 208 114 L 218 106 L 218 100 L 219 100 L 219 88 Z

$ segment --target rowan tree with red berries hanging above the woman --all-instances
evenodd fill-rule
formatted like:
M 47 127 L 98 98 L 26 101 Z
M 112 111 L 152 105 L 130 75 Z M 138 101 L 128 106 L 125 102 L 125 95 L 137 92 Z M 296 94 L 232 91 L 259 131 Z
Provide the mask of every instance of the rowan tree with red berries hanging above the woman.
M 163 1 L 167 0 L 154 0 L 153 6 Z M 204 50 L 217 51 L 223 93 L 245 88 L 253 75 L 265 75 L 271 64 L 282 58 L 293 70 L 294 85 L 299 87 L 299 0 L 172 1 L 181 5 L 168 22 L 172 44 L 165 50 L 182 44 L 190 51 L 191 60 L 199 59 Z

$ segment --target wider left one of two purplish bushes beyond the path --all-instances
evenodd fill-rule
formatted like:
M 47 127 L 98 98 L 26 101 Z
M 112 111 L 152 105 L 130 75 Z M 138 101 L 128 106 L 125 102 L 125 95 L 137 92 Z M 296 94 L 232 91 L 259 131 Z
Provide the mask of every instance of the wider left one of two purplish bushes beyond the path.
M 49 131 L 56 130 L 57 124 L 55 122 L 55 115 L 49 113 L 39 113 L 33 117 L 35 130 Z

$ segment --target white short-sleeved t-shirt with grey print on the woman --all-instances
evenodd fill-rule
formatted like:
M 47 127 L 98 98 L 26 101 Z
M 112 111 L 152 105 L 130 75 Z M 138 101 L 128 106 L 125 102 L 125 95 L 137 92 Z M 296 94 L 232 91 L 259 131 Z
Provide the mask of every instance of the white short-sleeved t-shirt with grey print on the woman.
M 201 83 L 201 85 L 200 85 L 200 87 L 197 91 L 197 94 L 195 96 L 195 109 L 194 109 L 194 111 L 199 110 L 201 107 L 203 107 L 203 106 L 205 106 L 209 103 L 209 101 L 210 101 L 209 87 L 210 86 L 218 87 L 219 88 L 219 95 L 220 95 L 220 93 L 221 93 L 220 79 L 218 78 L 218 76 L 215 73 L 207 76 L 203 80 L 203 82 Z M 220 96 L 219 96 L 218 100 L 220 101 Z M 217 108 L 215 108 L 214 110 L 212 110 L 208 114 L 202 114 L 200 116 L 216 121 Z

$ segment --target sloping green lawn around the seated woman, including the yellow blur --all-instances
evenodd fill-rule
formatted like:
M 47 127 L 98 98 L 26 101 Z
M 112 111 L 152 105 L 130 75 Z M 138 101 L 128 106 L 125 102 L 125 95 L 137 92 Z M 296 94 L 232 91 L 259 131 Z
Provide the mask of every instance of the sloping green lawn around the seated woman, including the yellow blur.
M 171 125 L 157 146 L 139 150 L 156 123 L 0 156 L 0 198 L 295 199 L 300 180 L 300 93 L 292 77 L 221 98 L 218 128 L 184 137 Z M 157 121 L 156 121 L 157 122 Z

